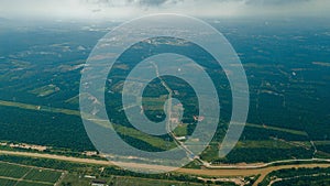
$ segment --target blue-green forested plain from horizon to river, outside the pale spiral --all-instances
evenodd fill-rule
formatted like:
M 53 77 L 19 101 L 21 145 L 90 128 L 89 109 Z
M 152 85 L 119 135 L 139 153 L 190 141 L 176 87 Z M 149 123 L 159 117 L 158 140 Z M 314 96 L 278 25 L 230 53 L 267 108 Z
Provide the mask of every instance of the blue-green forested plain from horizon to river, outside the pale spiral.
M 94 150 L 80 117 L 74 112 L 79 108 L 80 72 L 98 40 L 119 23 L 0 22 L 1 26 L 6 25 L 0 32 L 0 141 L 78 152 Z M 248 125 L 237 147 L 226 158 L 218 160 L 218 145 L 226 132 L 222 125 L 201 158 L 251 163 L 329 157 L 330 26 L 327 20 L 208 22 L 219 29 L 238 52 L 250 84 L 251 106 Z M 223 92 L 221 122 L 226 124 L 231 112 L 228 81 L 220 68 L 212 76 L 217 77 L 217 89 Z M 117 77 L 116 84 L 109 87 L 113 97 L 120 96 L 120 91 L 116 91 L 120 80 L 121 77 Z M 183 92 L 189 90 L 174 79 L 168 83 Z M 157 81 L 151 84 L 150 90 L 160 97 L 164 95 L 164 87 L 162 89 Z M 114 99 L 109 102 L 113 108 L 117 103 Z M 157 109 L 150 108 L 150 114 L 158 113 Z M 194 130 L 195 108 L 188 108 L 185 123 L 177 131 L 183 135 Z M 113 117 L 119 120 L 121 116 Z M 140 149 L 166 149 L 164 136 L 145 140 L 130 125 L 116 124 L 122 138 Z

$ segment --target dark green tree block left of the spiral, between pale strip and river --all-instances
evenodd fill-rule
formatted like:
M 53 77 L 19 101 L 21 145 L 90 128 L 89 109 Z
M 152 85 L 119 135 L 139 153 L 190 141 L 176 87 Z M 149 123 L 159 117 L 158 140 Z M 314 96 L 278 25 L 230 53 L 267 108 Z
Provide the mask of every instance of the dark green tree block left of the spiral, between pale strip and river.
M 14 107 L 0 108 L 1 114 L 7 116 L 0 118 L 1 139 L 72 151 L 95 151 L 78 116 Z

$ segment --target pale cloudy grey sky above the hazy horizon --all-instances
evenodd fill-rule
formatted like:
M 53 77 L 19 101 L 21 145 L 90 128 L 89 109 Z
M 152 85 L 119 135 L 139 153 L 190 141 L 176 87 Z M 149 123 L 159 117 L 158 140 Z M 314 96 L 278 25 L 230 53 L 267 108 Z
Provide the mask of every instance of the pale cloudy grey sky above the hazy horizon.
M 152 13 L 198 18 L 329 17 L 330 0 L 0 0 L 0 18 L 132 19 Z

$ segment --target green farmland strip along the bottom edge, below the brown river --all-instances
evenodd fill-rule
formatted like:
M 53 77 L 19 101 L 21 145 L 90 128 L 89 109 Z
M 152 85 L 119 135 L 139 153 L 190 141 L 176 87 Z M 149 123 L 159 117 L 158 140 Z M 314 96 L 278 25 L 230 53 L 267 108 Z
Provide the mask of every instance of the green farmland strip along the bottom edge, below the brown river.
M 53 168 L 65 169 L 63 177 L 61 178 L 59 186 L 88 186 L 95 179 L 106 180 L 109 185 L 122 185 L 127 184 L 140 184 L 141 186 L 170 186 L 170 185 L 179 185 L 179 186 L 198 186 L 204 185 L 207 180 L 199 179 L 198 177 L 204 177 L 204 175 L 188 175 L 182 173 L 169 173 L 168 174 L 139 174 L 129 171 L 124 171 L 114 166 L 105 166 L 97 164 L 86 164 L 86 163 L 75 163 L 75 162 L 66 162 L 62 160 L 51 160 L 51 158 L 35 158 L 35 157 L 24 157 L 24 156 L 10 156 L 10 155 L 0 155 L 1 161 L 4 162 L 16 162 L 20 163 L 20 166 L 33 166 L 34 169 L 30 171 L 31 174 L 26 175 L 28 178 L 32 177 L 33 180 L 28 180 L 24 178 L 24 182 L 32 182 L 38 184 L 48 184 L 48 183 L 40 183 L 41 180 L 55 180 L 54 176 L 58 176 L 58 172 L 55 174 Z M 88 160 L 86 160 L 88 161 Z M 3 163 L 4 163 L 3 162 Z M 40 174 L 40 169 L 43 168 L 43 173 Z M 51 169 L 48 169 L 51 168 Z M 46 169 L 46 172 L 44 172 Z M 36 174 L 36 175 L 35 175 Z M 46 175 L 47 178 L 40 177 L 42 175 Z M 212 176 L 213 178 L 215 176 Z M 242 176 L 241 176 L 242 177 Z M 53 179 L 54 178 L 54 179 Z M 209 176 L 206 176 L 209 178 Z M 13 179 L 13 178 L 12 178 Z M 26 179 L 26 180 L 25 180 Z M 38 182 L 36 182 L 38 179 Z M 8 178 L 2 182 L 10 182 Z M 15 182 L 15 180 L 14 180 Z M 220 184 L 221 183 L 221 184 Z M 215 184 L 220 185 L 234 185 L 231 180 L 218 180 Z M 210 185 L 212 185 L 210 183 Z

